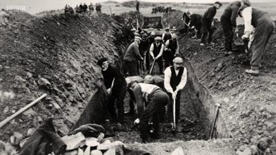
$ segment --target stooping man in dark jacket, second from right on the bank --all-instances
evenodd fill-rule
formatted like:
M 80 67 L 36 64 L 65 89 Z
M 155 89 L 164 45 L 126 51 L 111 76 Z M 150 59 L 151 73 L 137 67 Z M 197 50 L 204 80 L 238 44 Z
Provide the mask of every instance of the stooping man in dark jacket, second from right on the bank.
M 228 52 L 232 51 L 232 43 L 234 33 L 237 33 L 237 12 L 239 11 L 239 7 L 242 6 L 240 1 L 233 1 L 227 6 L 224 10 L 224 13 L 221 15 L 221 27 L 224 30 L 224 39 L 225 39 L 225 50 Z

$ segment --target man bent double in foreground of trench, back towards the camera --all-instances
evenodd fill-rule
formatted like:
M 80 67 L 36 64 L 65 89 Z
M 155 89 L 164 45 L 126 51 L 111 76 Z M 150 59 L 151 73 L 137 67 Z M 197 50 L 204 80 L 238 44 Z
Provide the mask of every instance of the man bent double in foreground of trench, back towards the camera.
M 150 136 L 149 123 L 152 118 L 152 138 L 159 138 L 160 111 L 168 104 L 168 94 L 157 85 L 148 83 L 133 83 L 131 86 L 137 105 L 138 118 L 135 124 L 140 124 L 140 136 L 143 143 L 148 143 Z M 145 107 L 145 108 L 144 108 Z

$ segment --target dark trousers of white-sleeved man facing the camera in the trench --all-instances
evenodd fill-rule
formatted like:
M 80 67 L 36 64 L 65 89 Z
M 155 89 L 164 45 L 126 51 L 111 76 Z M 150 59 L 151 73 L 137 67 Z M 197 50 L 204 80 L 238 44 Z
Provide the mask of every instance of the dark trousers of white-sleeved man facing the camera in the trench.
M 180 91 L 180 90 L 179 90 Z M 168 93 L 170 96 L 170 102 L 168 104 L 168 121 L 173 121 L 173 99 L 172 94 Z M 180 99 L 181 92 L 177 92 L 177 98 L 175 99 L 175 121 L 178 121 L 180 118 Z

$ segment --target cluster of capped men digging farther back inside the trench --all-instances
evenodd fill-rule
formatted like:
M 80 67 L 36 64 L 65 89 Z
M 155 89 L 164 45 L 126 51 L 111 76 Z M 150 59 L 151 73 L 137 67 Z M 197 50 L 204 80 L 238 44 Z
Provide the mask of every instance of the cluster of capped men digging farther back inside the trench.
M 151 73 L 155 63 L 159 66 L 159 74 L 164 74 L 165 68 L 172 65 L 172 59 L 179 54 L 179 43 L 177 35 L 170 33 L 170 28 L 166 28 L 166 32 L 161 37 L 155 36 L 155 32 L 151 32 L 150 36 L 144 32 L 135 32 L 134 41 L 128 46 L 124 56 L 126 65 L 126 74 L 128 76 L 138 75 L 139 69 Z M 150 66 L 150 59 L 152 65 Z M 146 64 L 146 68 L 144 68 Z

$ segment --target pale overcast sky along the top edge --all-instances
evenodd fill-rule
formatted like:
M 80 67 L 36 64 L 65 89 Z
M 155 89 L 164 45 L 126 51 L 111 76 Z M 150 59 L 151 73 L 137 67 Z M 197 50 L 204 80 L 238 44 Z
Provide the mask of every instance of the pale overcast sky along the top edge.
M 30 13 L 37 13 L 43 10 L 57 10 L 65 4 L 76 6 L 79 3 L 98 3 L 106 0 L 0 0 L 1 8 L 21 8 Z M 115 0 L 119 2 L 129 0 Z M 186 2 L 186 3 L 213 3 L 215 0 L 147 0 L 151 2 Z M 231 0 L 219 0 L 227 2 Z M 275 2 L 276 0 L 251 0 L 251 2 Z

